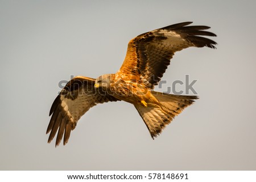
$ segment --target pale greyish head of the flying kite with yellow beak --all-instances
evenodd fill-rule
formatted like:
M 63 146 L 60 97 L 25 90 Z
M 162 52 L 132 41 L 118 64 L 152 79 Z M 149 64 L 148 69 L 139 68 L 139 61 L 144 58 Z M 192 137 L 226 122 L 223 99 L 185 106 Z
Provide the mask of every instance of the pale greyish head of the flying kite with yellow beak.
M 114 74 L 105 74 L 96 78 L 94 87 L 102 88 L 102 90 L 109 90 L 110 84 L 114 83 Z

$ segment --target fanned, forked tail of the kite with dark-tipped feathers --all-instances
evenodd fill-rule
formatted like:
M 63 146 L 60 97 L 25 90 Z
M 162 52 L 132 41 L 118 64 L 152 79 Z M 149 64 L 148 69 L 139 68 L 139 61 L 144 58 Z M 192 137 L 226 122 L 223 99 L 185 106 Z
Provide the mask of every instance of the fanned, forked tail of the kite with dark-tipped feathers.
M 143 107 L 141 104 L 134 104 L 143 118 L 151 137 L 157 137 L 166 125 L 170 124 L 173 118 L 183 111 L 185 107 L 191 105 L 197 96 L 172 95 L 151 91 L 159 101 L 159 105 L 149 104 Z

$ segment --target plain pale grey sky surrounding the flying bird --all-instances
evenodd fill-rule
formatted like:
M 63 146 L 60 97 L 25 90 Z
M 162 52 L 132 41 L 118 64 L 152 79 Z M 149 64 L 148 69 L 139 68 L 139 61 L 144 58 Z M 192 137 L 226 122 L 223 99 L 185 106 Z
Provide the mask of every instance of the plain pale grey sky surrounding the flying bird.
M 256 170 L 255 7 L 255 1 L 1 0 L 0 170 Z M 218 45 L 175 54 L 162 91 L 188 74 L 200 99 L 158 138 L 122 101 L 90 109 L 67 145 L 47 143 L 61 80 L 115 73 L 130 39 L 186 21 L 212 27 Z

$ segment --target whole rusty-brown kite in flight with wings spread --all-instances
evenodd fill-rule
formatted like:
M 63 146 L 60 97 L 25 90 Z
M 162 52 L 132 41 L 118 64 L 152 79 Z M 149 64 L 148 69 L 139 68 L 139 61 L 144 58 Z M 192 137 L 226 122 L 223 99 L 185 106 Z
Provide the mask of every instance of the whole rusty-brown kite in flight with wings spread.
M 53 101 L 47 128 L 48 143 L 57 133 L 56 145 L 64 136 L 68 142 L 71 130 L 90 108 L 108 101 L 126 101 L 134 105 L 149 130 L 158 136 L 167 124 L 197 96 L 163 94 L 154 91 L 174 53 L 194 47 L 216 48 L 217 43 L 202 36 L 216 36 L 207 26 L 189 26 L 183 22 L 143 33 L 128 44 L 125 60 L 115 74 L 94 79 L 78 76 L 69 81 Z M 58 132 L 57 132 L 58 131 Z

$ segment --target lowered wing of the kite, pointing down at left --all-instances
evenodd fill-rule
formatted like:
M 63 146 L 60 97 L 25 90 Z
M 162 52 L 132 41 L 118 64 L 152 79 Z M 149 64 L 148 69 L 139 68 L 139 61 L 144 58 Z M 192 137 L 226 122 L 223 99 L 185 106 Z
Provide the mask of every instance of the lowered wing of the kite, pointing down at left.
M 117 101 L 106 92 L 100 92 L 94 88 L 95 79 L 87 77 L 75 77 L 69 81 L 53 101 L 49 116 L 52 115 L 47 132 L 48 143 L 57 133 L 56 146 L 60 144 L 64 135 L 64 145 L 68 142 L 71 130 L 76 128 L 77 121 L 91 107 L 98 103 Z

